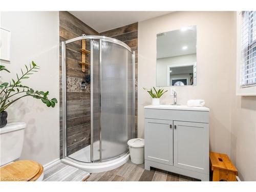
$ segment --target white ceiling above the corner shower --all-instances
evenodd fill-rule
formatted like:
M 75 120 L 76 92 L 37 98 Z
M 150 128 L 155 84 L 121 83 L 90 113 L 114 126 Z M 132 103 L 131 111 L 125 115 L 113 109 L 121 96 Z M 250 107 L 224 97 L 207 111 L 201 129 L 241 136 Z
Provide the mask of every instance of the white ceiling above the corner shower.
M 173 11 L 69 11 L 99 33 Z

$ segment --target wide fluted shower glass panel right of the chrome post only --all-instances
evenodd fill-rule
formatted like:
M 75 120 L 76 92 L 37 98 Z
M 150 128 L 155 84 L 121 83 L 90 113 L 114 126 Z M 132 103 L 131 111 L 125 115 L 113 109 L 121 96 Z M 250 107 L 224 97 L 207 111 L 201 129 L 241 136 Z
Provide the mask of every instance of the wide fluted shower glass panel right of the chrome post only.
M 133 138 L 132 53 L 101 40 L 101 160 L 127 151 Z

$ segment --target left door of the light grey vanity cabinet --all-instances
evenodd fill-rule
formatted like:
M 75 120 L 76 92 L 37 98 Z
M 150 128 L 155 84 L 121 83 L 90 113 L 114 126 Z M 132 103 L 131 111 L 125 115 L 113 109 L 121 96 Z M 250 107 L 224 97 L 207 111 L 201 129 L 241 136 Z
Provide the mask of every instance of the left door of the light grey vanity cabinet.
M 173 121 L 145 119 L 145 159 L 173 165 Z

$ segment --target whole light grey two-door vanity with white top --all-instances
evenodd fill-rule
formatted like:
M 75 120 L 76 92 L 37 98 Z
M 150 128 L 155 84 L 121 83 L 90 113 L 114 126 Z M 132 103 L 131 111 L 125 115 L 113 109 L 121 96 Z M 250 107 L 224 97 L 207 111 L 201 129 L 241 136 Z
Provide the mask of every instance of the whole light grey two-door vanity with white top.
M 209 181 L 209 109 L 148 105 L 144 110 L 145 169 Z

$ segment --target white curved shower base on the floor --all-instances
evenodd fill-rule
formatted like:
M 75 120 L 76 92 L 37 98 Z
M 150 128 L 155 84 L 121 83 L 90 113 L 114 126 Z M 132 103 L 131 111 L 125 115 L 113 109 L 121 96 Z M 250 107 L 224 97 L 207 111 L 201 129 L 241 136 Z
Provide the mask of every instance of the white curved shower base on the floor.
M 99 159 L 98 146 L 99 146 L 99 143 L 95 142 L 94 154 L 93 154 L 94 159 Z M 106 157 L 107 154 L 111 154 L 113 150 L 122 151 L 123 145 L 104 141 L 104 140 L 102 141 L 102 157 Z M 82 148 L 81 150 L 69 155 L 65 159 L 61 159 L 61 162 L 83 169 L 89 173 L 100 173 L 100 172 L 106 172 L 108 170 L 112 170 L 114 168 L 117 168 L 123 165 L 129 160 L 130 154 L 129 154 L 129 151 L 127 151 L 126 153 L 122 154 L 117 158 L 106 160 L 103 162 L 93 162 L 93 163 L 90 163 L 90 157 L 91 157 L 91 145 Z

